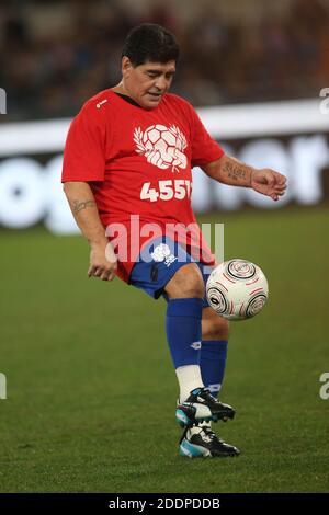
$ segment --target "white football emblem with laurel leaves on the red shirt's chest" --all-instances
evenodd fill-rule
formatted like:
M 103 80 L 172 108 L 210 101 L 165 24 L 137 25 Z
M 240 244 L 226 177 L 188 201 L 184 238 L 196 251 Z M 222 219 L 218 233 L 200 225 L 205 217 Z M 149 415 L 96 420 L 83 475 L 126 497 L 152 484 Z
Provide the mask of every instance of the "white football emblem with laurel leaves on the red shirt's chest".
M 188 158 L 184 150 L 188 147 L 186 138 L 175 126 L 150 125 L 144 133 L 140 127 L 134 131 L 136 151 L 143 153 L 147 162 L 162 170 L 171 167 L 172 172 L 186 168 Z

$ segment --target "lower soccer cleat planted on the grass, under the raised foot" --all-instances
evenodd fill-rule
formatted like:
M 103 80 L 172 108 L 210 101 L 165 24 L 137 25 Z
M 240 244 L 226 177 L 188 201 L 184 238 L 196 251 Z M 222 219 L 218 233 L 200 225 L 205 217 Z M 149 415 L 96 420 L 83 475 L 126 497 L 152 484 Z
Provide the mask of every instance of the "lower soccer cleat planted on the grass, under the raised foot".
M 240 450 L 218 438 L 209 426 L 195 426 L 185 428 L 179 453 L 185 458 L 227 458 L 239 456 Z

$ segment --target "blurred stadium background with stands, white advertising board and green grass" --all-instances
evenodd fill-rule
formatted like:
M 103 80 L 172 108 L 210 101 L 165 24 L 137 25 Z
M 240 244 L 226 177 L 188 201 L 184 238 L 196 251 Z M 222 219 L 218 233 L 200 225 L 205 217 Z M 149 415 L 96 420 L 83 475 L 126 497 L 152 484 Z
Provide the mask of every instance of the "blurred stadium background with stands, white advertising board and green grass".
M 257 262 L 271 287 L 259 319 L 231 329 L 234 462 L 175 456 L 163 305 L 84 281 L 60 186 L 72 116 L 118 80 L 124 37 L 146 21 L 178 36 L 173 92 L 211 134 L 288 176 L 274 204 L 194 171 L 200 221 L 224 222 L 225 256 Z M 0 87 L 0 491 L 328 491 L 329 1 L 2 0 Z

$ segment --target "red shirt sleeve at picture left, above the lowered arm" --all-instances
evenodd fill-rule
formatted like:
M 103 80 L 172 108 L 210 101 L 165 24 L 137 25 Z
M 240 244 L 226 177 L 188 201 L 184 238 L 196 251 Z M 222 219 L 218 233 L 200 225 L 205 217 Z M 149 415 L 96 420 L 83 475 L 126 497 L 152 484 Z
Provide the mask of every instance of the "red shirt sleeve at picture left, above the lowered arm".
M 64 150 L 61 182 L 103 181 L 106 125 L 101 110 L 87 103 L 72 121 Z

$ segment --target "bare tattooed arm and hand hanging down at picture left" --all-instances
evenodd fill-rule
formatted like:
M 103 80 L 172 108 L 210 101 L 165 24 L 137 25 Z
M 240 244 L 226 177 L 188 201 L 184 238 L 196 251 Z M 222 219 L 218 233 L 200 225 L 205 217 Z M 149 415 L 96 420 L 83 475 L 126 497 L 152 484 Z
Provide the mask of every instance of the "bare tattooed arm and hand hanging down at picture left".
M 116 271 L 116 256 L 105 237 L 93 193 L 88 182 L 68 181 L 64 192 L 72 215 L 90 245 L 89 277 L 112 281 Z

